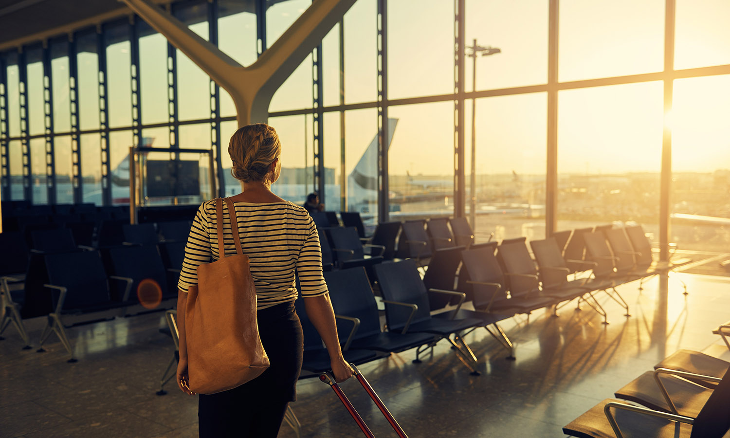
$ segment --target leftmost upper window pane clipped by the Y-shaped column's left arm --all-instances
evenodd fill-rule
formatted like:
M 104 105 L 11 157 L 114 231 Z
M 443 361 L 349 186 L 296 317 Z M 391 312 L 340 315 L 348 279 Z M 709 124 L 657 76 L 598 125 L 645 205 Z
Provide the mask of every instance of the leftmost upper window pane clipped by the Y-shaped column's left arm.
M 139 29 L 139 91 L 142 123 L 165 123 L 167 110 L 167 39 L 142 20 Z

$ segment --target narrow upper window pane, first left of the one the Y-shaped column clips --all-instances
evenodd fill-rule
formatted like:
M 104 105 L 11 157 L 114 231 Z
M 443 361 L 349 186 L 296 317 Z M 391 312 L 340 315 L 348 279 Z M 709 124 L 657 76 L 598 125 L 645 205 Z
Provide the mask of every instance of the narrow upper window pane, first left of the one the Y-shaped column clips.
M 131 126 L 131 57 L 129 24 L 120 23 L 104 30 L 107 38 L 107 87 L 109 126 Z

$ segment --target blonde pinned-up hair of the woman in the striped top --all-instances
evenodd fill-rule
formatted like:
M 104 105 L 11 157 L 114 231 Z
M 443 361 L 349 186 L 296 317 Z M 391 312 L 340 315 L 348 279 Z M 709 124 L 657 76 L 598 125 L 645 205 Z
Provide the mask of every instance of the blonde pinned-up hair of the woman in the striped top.
M 281 142 L 276 130 L 266 123 L 239 128 L 228 143 L 233 167 L 231 174 L 244 183 L 264 180 L 269 166 L 281 154 Z

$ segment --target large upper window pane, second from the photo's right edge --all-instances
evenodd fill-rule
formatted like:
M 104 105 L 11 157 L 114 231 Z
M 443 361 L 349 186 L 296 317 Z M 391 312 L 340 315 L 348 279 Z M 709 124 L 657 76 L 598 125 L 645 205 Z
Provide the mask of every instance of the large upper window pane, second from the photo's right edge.
M 563 0 L 558 44 L 563 82 L 661 72 L 664 0 Z

